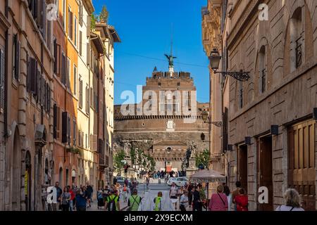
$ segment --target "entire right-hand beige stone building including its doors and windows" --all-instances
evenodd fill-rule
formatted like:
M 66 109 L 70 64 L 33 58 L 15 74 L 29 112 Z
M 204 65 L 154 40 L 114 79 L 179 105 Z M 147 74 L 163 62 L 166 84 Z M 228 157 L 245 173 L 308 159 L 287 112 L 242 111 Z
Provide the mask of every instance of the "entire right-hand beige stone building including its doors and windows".
M 289 187 L 302 195 L 304 209 L 316 210 L 317 2 L 211 0 L 209 5 L 225 9 L 217 19 L 223 25 L 222 64 L 227 62 L 228 71 L 250 72 L 248 82 L 228 77 L 224 85 L 230 188 L 242 181 L 250 210 L 274 210 Z M 268 188 L 268 204 L 258 202 L 260 186 Z

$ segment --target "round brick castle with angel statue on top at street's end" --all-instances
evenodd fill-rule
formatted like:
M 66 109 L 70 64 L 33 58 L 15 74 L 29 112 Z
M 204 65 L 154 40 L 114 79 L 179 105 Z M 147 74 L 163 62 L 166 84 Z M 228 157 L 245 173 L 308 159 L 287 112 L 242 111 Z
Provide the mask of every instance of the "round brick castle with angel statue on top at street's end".
M 169 71 L 156 68 L 142 86 L 143 100 L 114 107 L 114 150 L 138 148 L 156 161 L 156 171 L 182 170 L 189 143 L 197 152 L 209 149 L 209 124 L 201 112 L 209 103 L 199 103 L 189 72 L 174 72 L 173 56 L 167 56 Z M 206 136 L 201 141 L 201 133 Z

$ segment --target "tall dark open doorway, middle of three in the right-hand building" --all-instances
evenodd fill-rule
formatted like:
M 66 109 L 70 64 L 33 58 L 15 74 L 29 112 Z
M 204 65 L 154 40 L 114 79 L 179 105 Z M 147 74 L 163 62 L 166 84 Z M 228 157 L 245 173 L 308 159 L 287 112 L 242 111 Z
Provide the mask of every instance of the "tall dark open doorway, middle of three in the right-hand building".
M 262 211 L 273 211 L 273 168 L 272 168 L 272 137 L 266 136 L 258 143 L 258 188 L 268 188 L 268 203 L 259 204 L 258 209 Z

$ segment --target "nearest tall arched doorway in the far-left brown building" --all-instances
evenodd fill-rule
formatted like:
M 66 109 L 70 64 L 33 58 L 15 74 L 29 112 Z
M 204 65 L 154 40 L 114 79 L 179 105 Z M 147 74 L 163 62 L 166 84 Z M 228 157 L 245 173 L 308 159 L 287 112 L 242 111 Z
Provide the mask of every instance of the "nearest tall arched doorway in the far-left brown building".
M 20 211 L 21 202 L 21 150 L 20 150 L 20 134 L 15 129 L 13 139 L 13 164 L 12 164 L 12 210 Z

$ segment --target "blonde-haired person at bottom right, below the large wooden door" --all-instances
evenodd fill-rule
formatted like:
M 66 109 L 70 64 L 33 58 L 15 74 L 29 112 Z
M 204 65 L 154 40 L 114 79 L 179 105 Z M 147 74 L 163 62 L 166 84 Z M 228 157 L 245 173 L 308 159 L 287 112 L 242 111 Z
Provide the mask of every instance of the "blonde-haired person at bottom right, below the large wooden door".
M 285 205 L 278 206 L 275 211 L 305 211 L 301 207 L 301 198 L 299 196 L 299 193 L 295 189 L 287 189 L 283 197 Z

